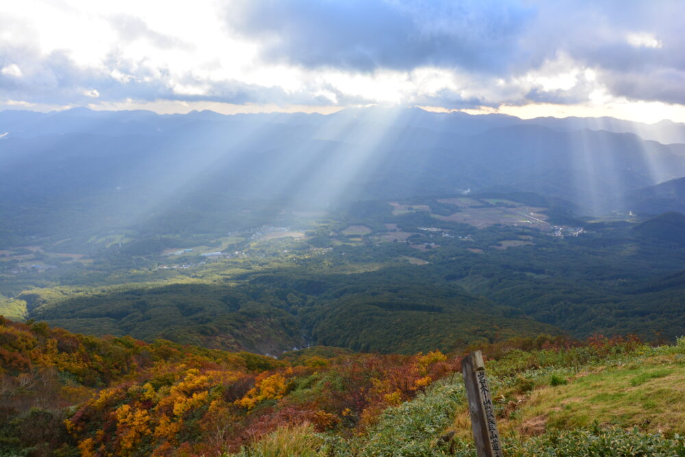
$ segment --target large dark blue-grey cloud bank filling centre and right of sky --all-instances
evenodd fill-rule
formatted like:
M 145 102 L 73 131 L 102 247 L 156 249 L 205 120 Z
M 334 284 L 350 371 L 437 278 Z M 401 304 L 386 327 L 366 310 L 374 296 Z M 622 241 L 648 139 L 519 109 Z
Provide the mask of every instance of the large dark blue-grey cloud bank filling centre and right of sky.
M 685 1 L 245 0 L 229 26 L 262 42 L 265 60 L 371 72 L 420 66 L 516 77 L 560 53 L 610 75 L 613 95 L 682 103 Z M 636 46 L 631 34 L 658 47 Z M 530 92 L 577 101 L 579 90 Z

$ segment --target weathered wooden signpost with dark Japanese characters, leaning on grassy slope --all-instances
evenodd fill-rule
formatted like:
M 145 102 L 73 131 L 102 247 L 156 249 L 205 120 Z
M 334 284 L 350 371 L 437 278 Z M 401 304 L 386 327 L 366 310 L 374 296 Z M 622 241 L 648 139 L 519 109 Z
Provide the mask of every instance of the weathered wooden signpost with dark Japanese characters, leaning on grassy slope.
M 471 429 L 478 457 L 503 457 L 481 351 L 472 352 L 462 360 L 462 375 L 469 399 Z

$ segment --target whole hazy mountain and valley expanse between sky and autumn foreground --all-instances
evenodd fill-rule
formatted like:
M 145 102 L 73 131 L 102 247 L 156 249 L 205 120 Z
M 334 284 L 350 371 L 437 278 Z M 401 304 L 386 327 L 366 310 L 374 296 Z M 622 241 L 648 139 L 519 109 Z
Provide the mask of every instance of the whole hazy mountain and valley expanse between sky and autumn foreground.
M 682 145 L 538 121 L 3 112 L 0 313 L 262 354 L 685 334 L 682 214 L 649 203 Z

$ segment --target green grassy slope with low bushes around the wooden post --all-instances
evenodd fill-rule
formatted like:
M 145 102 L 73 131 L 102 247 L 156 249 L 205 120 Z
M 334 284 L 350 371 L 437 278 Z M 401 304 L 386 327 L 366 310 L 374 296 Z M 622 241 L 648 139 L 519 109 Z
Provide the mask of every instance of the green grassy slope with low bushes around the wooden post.
M 486 366 L 508 456 L 685 455 L 685 338 L 627 350 L 514 350 Z M 241 455 L 288 447 L 312 456 L 475 456 L 472 440 L 455 373 L 386 409 L 362 436 L 282 429 Z

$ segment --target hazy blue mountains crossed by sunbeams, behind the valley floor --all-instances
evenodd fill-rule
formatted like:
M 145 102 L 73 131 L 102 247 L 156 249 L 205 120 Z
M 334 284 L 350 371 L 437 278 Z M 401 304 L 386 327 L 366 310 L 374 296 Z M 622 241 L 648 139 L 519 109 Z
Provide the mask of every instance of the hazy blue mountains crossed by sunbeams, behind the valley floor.
M 556 197 L 577 216 L 657 214 L 679 210 L 682 199 L 641 189 L 685 176 L 685 145 L 634 134 L 681 140 L 685 125 L 616 119 L 523 121 L 418 108 L 327 116 L 75 108 L 3 111 L 0 132 L 7 132 L 0 138 L 5 236 L 17 225 L 38 234 L 47 225 L 125 227 L 170 210 L 225 212 L 236 200 L 327 208 L 475 191 Z

